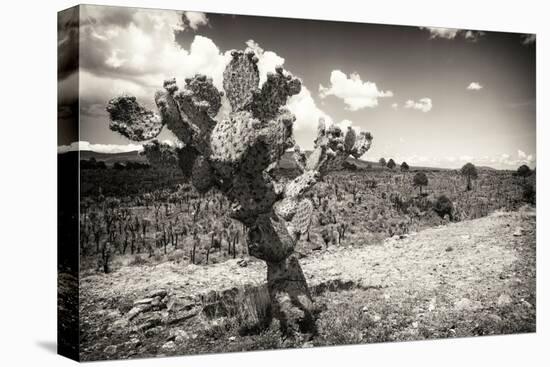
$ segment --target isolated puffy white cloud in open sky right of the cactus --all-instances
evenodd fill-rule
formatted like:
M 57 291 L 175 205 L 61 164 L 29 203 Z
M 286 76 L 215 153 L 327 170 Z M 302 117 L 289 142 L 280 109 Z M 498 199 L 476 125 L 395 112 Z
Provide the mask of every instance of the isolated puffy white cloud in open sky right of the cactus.
M 393 97 L 392 91 L 381 91 L 376 83 L 363 82 L 357 73 L 350 74 L 348 78 L 340 70 L 333 70 L 330 74 L 330 83 L 328 88 L 319 85 L 319 96 L 326 98 L 333 95 L 341 98 L 351 111 L 376 107 L 378 98 Z

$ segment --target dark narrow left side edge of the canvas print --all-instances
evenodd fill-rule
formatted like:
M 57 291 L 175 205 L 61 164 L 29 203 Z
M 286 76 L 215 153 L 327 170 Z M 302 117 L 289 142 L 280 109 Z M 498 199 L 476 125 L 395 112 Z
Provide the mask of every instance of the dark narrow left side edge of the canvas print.
M 79 356 L 79 7 L 58 13 L 57 352 Z

